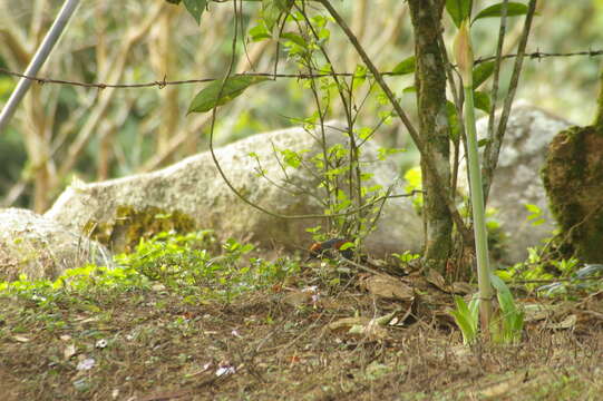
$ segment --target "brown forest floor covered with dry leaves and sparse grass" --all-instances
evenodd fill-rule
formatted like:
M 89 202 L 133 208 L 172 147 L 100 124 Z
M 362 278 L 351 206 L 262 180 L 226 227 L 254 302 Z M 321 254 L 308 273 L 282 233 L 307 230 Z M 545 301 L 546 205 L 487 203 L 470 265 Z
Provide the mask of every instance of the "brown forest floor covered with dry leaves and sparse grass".
M 16 400 L 600 400 L 603 293 L 527 316 L 516 345 L 463 345 L 453 296 L 407 301 L 312 271 L 230 303 L 162 285 L 0 297 L 0 398 Z M 305 288 L 305 291 L 303 291 Z M 367 327 L 393 313 L 385 326 Z M 370 324 L 368 324 L 370 325 Z M 358 327 L 357 327 L 358 329 Z

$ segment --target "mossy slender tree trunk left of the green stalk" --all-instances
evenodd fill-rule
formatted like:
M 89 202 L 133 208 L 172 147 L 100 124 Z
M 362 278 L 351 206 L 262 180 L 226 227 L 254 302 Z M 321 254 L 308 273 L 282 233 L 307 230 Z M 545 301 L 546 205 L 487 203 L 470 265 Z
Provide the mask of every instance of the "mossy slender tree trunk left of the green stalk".
M 419 131 L 434 155 L 436 168 L 450 190 L 450 140 L 446 113 L 446 69 L 438 46 L 438 30 L 445 2 L 442 0 L 409 0 L 415 31 L 416 87 Z M 453 247 L 453 218 L 439 194 L 429 169 L 421 162 L 422 185 L 427 190 L 424 203 L 426 245 L 424 261 L 429 267 L 445 272 Z

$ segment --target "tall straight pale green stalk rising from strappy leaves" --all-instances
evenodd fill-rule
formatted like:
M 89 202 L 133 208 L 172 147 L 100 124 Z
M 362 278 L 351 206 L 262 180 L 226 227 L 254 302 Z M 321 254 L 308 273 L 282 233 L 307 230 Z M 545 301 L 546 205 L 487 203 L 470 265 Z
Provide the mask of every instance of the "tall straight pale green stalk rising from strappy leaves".
M 486 231 L 486 213 L 484 211 L 484 192 L 479 155 L 477 153 L 477 134 L 475 128 L 475 107 L 473 89 L 473 51 L 468 21 L 464 21 L 455 39 L 455 56 L 465 91 L 465 133 L 467 135 L 467 158 L 469 167 L 469 188 L 474 217 L 475 247 L 477 254 L 477 283 L 479 286 L 479 320 L 482 334 L 488 338 L 492 316 L 493 288 L 488 260 L 488 234 Z

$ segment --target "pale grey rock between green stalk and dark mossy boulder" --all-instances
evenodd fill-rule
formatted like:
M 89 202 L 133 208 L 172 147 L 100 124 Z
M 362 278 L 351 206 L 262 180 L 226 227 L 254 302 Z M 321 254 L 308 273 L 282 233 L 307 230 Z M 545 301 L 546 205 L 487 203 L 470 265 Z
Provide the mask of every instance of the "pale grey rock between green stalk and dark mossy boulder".
M 508 236 L 505 263 L 524 261 L 526 248 L 542 245 L 555 228 L 539 174 L 548 144 L 570 125 L 525 101 L 513 106 L 487 205 L 498 211 L 495 218 Z M 480 118 L 478 139 L 487 137 L 487 129 L 488 118 Z M 536 217 L 535 208 L 531 212 L 526 205 L 535 205 L 542 214 Z

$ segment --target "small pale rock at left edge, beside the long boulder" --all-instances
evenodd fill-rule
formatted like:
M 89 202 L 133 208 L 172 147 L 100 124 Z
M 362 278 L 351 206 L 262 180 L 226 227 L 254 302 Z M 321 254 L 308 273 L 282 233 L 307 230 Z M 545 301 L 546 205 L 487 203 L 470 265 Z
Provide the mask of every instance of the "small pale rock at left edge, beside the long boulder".
M 110 257 L 98 243 L 31 211 L 0 209 L 0 281 L 20 274 L 52 280 L 87 263 L 109 265 Z

